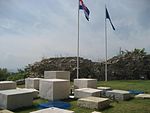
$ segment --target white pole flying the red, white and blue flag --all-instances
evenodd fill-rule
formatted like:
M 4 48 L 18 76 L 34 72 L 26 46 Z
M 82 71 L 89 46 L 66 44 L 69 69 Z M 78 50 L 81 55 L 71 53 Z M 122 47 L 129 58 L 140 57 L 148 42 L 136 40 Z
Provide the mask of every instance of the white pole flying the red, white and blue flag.
M 79 16 L 80 16 L 80 12 L 79 12 L 79 5 L 80 5 L 80 1 L 78 0 L 78 39 L 77 39 L 77 79 L 79 78 Z

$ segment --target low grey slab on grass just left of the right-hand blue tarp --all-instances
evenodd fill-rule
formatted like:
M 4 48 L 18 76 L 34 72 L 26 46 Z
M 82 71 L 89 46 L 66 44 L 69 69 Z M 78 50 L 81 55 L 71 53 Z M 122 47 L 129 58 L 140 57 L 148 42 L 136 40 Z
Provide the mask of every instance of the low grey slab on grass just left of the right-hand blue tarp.
M 106 96 L 116 100 L 129 100 L 132 98 L 132 95 L 128 91 L 124 90 L 106 91 Z

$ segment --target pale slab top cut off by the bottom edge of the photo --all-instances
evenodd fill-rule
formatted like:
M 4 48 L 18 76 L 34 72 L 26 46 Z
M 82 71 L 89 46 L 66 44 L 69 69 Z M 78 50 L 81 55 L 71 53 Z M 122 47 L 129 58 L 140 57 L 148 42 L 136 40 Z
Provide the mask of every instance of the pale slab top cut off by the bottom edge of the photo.
M 47 109 L 33 111 L 30 113 L 75 113 L 75 112 L 70 111 L 70 110 L 64 110 L 64 109 L 60 109 L 60 108 L 51 107 L 51 108 L 47 108 Z

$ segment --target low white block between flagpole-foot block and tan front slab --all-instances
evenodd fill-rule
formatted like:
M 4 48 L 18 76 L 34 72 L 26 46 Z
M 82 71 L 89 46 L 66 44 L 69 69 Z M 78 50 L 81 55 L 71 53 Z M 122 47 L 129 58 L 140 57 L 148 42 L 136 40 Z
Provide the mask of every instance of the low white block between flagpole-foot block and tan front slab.
M 75 98 L 84 98 L 84 97 L 100 97 L 101 90 L 93 89 L 93 88 L 81 88 L 75 89 L 74 97 Z

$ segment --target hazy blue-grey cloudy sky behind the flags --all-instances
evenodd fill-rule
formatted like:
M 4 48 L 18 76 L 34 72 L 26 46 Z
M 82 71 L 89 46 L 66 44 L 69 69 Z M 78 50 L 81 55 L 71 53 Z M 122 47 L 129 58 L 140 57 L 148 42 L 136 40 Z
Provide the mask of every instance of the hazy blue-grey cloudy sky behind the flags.
M 83 0 L 90 21 L 80 11 L 80 56 L 105 58 L 105 4 L 108 58 L 119 49 L 150 53 L 150 0 Z M 16 70 L 42 58 L 76 56 L 78 0 L 0 0 L 0 68 Z

